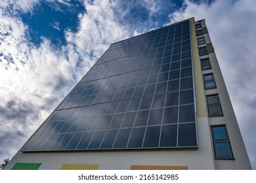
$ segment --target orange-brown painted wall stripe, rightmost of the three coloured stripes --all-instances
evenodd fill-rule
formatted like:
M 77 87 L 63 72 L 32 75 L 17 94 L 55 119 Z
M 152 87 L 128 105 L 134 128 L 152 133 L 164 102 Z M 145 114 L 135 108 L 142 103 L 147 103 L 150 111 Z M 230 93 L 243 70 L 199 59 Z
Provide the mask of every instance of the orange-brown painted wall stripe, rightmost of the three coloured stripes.
M 131 170 L 188 170 L 186 166 L 131 165 Z

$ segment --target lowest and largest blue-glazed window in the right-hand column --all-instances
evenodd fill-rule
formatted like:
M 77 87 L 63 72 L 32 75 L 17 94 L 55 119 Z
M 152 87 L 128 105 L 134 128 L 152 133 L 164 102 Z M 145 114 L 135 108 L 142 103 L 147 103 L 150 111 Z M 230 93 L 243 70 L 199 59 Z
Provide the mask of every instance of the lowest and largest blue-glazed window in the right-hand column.
M 226 125 L 211 126 L 211 135 L 213 137 L 213 147 L 216 159 L 234 159 Z

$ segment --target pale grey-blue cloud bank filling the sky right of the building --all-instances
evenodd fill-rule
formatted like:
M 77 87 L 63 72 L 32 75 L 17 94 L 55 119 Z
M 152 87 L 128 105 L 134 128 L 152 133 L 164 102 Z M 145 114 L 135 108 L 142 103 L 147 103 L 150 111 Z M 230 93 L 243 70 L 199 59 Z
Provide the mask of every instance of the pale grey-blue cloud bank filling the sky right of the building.
M 185 0 L 170 14 L 171 23 L 205 19 L 247 151 L 256 169 L 256 1 L 221 1 L 210 5 Z

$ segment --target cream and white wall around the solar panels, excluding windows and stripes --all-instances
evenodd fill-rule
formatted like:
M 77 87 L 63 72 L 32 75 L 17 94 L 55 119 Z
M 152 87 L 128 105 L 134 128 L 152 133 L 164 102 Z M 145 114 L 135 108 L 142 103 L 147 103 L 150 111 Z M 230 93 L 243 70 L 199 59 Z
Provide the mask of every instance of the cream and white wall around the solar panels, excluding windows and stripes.
M 205 27 L 204 20 L 201 22 Z M 39 169 L 60 169 L 63 164 L 93 164 L 98 169 L 131 169 L 131 165 L 184 166 L 188 169 L 251 169 L 236 117 L 215 53 L 200 57 L 194 18 L 190 19 L 192 33 L 193 72 L 196 97 L 198 148 L 161 150 L 97 150 L 81 152 L 21 153 L 11 159 L 5 169 L 15 163 L 42 163 Z M 202 35 L 211 43 L 209 34 Z M 206 45 L 206 44 L 205 44 Z M 210 58 L 212 69 L 201 71 L 200 59 Z M 213 73 L 217 88 L 204 90 L 203 74 Z M 218 93 L 224 116 L 209 118 L 206 95 Z M 225 124 L 235 159 L 215 159 L 211 139 L 211 125 Z

